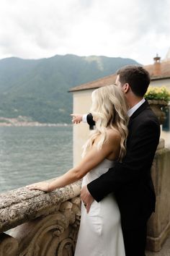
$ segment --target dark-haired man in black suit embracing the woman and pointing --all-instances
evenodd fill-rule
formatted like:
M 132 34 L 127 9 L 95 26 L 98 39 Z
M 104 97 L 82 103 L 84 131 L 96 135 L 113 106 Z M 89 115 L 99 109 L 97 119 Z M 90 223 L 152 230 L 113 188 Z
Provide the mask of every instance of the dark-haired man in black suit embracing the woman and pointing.
M 126 256 L 145 256 L 147 221 L 155 210 L 151 165 L 160 125 L 143 98 L 149 83 L 149 74 L 143 67 L 126 66 L 118 70 L 115 85 L 125 93 L 130 116 L 127 153 L 122 163 L 109 168 L 106 174 L 81 189 L 87 212 L 93 200 L 99 202 L 114 192 L 120 208 Z M 73 115 L 73 123 L 79 123 L 82 117 Z M 94 125 L 91 114 L 86 120 Z

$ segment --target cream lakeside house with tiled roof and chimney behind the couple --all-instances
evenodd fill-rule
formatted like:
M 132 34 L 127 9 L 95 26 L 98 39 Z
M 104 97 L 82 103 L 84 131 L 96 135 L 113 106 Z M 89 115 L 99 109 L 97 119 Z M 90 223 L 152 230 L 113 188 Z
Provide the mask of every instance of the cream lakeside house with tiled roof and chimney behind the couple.
M 166 86 L 170 90 L 170 51 L 166 55 L 166 59 L 161 61 L 157 55 L 153 58 L 153 64 L 144 66 L 151 75 L 151 86 Z M 76 86 L 70 90 L 73 93 L 73 113 L 86 114 L 89 113 L 91 106 L 91 93 L 93 90 L 106 85 L 115 83 L 116 74 L 102 77 L 99 80 L 87 82 L 83 85 Z M 81 160 L 82 146 L 86 142 L 89 135 L 89 126 L 81 123 L 73 126 L 73 164 L 79 163 Z M 166 145 L 170 146 L 170 106 L 166 110 L 166 123 L 161 129 L 161 137 L 166 141 Z

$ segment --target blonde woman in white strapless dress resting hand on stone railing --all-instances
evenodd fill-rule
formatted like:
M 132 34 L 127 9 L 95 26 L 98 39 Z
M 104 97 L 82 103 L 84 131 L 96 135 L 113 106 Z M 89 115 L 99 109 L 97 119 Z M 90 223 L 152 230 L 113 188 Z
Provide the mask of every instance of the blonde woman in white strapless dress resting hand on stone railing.
M 50 192 L 84 177 L 82 186 L 101 176 L 122 161 L 126 153 L 128 116 L 125 98 L 115 85 L 108 85 L 91 95 L 91 114 L 96 122 L 94 131 L 84 145 L 83 158 L 78 166 L 53 182 L 30 184 L 28 189 Z M 75 256 L 125 256 L 120 223 L 120 210 L 113 194 L 101 202 L 94 201 L 89 213 L 81 204 L 81 223 Z

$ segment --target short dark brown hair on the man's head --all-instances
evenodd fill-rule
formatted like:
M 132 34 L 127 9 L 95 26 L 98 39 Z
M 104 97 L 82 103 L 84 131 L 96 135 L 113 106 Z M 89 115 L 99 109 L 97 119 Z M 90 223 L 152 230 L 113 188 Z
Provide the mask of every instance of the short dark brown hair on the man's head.
M 137 65 L 128 65 L 119 69 L 117 74 L 120 75 L 121 85 L 128 83 L 135 95 L 143 97 L 146 94 L 151 81 L 146 69 Z

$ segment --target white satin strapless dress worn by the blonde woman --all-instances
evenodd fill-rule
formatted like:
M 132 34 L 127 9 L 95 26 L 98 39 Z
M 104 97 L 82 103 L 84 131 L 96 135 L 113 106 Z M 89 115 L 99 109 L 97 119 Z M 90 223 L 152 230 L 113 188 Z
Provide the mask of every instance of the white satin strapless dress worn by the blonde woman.
M 108 171 L 115 161 L 104 159 L 84 176 L 82 187 Z M 125 256 L 120 210 L 114 195 L 94 201 L 89 213 L 81 204 L 81 223 L 74 256 Z

